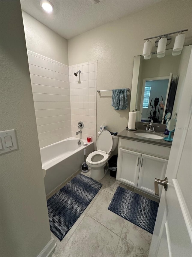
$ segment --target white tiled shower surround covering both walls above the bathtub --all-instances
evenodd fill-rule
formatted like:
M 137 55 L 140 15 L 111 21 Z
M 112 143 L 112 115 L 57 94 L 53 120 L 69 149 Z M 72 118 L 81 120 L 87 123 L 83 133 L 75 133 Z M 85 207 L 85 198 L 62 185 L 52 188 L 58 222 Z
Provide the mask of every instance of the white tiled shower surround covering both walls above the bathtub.
M 97 61 L 69 71 L 67 65 L 27 52 L 40 148 L 70 136 L 95 140 Z M 75 77 L 77 70 L 81 74 Z M 84 128 L 76 135 L 78 121 Z

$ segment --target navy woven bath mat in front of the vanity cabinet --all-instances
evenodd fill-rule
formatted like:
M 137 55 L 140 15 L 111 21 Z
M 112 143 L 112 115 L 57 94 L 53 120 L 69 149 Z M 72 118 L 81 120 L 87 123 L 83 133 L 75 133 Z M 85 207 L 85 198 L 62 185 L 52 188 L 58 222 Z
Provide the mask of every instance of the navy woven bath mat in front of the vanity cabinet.
M 118 186 L 108 210 L 153 233 L 159 204 Z

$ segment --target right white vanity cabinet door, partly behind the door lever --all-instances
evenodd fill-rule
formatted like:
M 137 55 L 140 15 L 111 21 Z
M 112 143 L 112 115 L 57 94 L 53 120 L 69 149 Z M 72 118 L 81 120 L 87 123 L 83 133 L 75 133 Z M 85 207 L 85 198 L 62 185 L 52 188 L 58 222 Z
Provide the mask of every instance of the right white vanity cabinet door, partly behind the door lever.
M 155 195 L 154 180 L 155 178 L 165 178 L 167 163 L 168 160 L 142 154 L 137 187 L 141 190 Z M 163 186 L 159 186 L 159 196 L 161 196 L 162 188 Z

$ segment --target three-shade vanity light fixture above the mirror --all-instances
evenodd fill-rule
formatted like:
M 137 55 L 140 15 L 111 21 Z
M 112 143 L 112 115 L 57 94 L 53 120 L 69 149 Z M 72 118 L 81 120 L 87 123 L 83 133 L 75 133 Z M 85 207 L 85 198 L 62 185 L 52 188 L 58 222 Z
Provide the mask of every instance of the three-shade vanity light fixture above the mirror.
M 156 42 L 158 42 L 157 57 L 161 58 L 161 57 L 165 56 L 166 45 L 168 45 L 170 43 L 170 42 L 167 42 L 168 35 L 173 35 L 173 34 L 176 34 L 176 33 L 180 33 L 180 34 L 178 36 L 176 36 L 172 55 L 180 55 L 181 51 L 183 49 L 184 40 L 185 40 L 185 34 L 183 34 L 182 32 L 187 31 L 187 30 L 179 30 L 179 31 L 176 31 L 176 32 L 168 33 L 168 34 L 153 36 L 153 37 L 143 39 L 143 40 L 147 40 L 144 44 L 144 47 L 143 47 L 144 59 L 147 60 L 147 59 L 151 58 L 152 43 L 149 39 L 160 38 Z M 170 40 L 170 38 L 168 38 L 168 39 Z

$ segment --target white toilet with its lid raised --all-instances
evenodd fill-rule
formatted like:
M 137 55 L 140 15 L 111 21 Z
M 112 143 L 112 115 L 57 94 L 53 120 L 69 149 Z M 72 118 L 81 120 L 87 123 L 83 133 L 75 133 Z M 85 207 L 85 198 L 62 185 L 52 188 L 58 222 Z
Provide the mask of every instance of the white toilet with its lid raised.
M 101 180 L 107 173 L 105 166 L 118 144 L 118 136 L 112 136 L 108 130 L 98 132 L 97 151 L 87 156 L 86 163 L 91 168 L 91 178 Z

